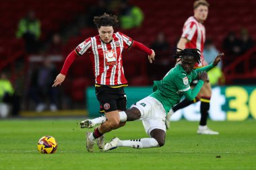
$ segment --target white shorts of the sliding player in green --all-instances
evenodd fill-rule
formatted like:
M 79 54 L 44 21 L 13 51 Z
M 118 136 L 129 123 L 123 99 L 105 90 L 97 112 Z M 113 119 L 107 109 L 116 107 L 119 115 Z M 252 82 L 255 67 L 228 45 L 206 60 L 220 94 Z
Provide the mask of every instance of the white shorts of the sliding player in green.
M 166 132 L 165 117 L 166 112 L 162 103 L 154 97 L 146 97 L 137 101 L 131 108 L 137 108 L 141 112 L 141 118 L 146 133 L 150 136 L 150 132 L 154 129 L 162 129 Z

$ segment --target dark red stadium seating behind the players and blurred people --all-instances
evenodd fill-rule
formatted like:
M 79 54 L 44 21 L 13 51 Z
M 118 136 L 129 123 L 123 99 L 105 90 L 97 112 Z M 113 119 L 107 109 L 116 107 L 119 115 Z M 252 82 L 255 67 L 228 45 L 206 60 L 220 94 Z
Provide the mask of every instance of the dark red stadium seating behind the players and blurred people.
M 154 41 L 158 32 L 164 32 L 171 48 L 176 46 L 185 19 L 193 15 L 193 1 L 191 0 L 132 0 L 130 2 L 143 11 L 143 23 L 139 28 L 117 30 L 147 46 Z M 107 3 L 113 5 L 113 9 L 118 9 L 119 1 L 107 1 Z M 256 41 L 255 0 L 209 0 L 209 3 L 210 13 L 205 22 L 206 36 L 213 40 L 219 51 L 224 51 L 222 42 L 230 31 L 239 36 L 241 29 L 246 28 L 251 38 Z M 85 22 L 88 18 L 88 9 L 93 5 L 97 5 L 97 2 L 93 0 L 1 1 L 0 71 L 7 73 L 15 90 L 20 95 L 24 115 L 28 115 L 26 113 L 30 114 L 30 111 L 34 110 L 33 102 L 27 95 L 32 68 L 41 65 L 44 56 L 50 56 L 60 71 L 69 52 L 86 38 L 98 33 L 96 28 L 89 27 Z M 41 22 L 40 50 L 36 54 L 26 54 L 24 41 L 15 37 L 19 20 L 29 10 L 35 11 L 36 17 Z M 63 50 L 60 50 L 59 54 L 53 55 L 51 52 L 47 52 L 46 48 L 51 44 L 51 37 L 55 33 L 61 35 Z M 255 47 L 242 56 L 226 55 L 222 67 L 226 81 L 222 85 L 255 85 L 255 55 Z M 124 56 L 127 56 L 124 57 L 124 67 L 129 85 L 150 86 L 152 77 L 148 70 L 151 66 L 147 63 L 146 55 L 131 49 L 129 57 L 126 52 Z M 170 61 L 172 62 L 168 64 L 168 67 L 173 67 L 174 60 Z M 82 57 L 75 60 L 65 83 L 58 87 L 59 110 L 83 110 L 86 108 L 84 91 L 86 87 L 93 85 L 94 78 L 89 58 Z

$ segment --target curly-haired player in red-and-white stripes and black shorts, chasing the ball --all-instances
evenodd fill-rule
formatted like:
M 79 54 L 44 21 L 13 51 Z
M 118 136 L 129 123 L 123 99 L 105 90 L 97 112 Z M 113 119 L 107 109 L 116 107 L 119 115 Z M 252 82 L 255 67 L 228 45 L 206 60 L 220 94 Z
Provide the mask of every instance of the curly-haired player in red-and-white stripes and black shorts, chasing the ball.
M 79 44 L 69 56 L 67 56 L 61 73 L 57 75 L 53 87 L 61 85 L 65 80 L 65 75 L 76 57 L 85 52 L 90 53 L 95 75 L 96 96 L 100 102 L 100 107 L 105 112 L 107 121 L 95 128 L 94 132 L 87 132 L 86 147 L 88 152 L 93 151 L 93 144 L 98 139 L 99 148 L 103 148 L 103 134 L 113 129 L 120 128 L 125 122 L 120 122 L 118 110 L 125 111 L 126 95 L 123 87 L 127 86 L 123 71 L 123 50 L 133 47 L 148 54 L 148 59 L 152 63 L 154 60 L 154 50 L 129 38 L 121 32 L 114 33 L 114 28 L 118 26 L 117 16 L 104 15 L 94 17 L 94 24 L 98 28 L 99 35 L 87 38 Z M 126 116 L 124 114 L 124 116 Z M 84 121 L 81 122 L 84 124 Z M 101 137 L 102 136 L 102 137 Z

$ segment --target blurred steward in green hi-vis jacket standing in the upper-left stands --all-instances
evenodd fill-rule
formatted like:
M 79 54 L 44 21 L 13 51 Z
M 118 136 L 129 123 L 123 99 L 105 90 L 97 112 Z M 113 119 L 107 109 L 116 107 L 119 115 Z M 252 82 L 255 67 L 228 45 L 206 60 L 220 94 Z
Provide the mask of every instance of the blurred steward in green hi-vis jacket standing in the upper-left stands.
M 28 11 L 26 17 L 20 19 L 16 36 L 24 39 L 28 54 L 38 52 L 40 21 L 36 18 L 34 11 Z

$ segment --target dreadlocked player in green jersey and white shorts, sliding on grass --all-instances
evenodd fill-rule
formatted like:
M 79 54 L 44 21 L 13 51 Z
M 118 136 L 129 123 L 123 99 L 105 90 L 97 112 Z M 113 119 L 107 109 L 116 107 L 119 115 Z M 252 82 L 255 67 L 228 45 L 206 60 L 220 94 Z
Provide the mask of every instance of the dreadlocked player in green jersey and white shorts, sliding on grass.
M 207 81 L 207 71 L 218 65 L 221 56 L 218 54 L 214 62 L 206 67 L 193 70 L 195 63 L 200 62 L 200 51 L 196 48 L 186 48 L 174 54 L 174 58 L 181 58 L 181 64 L 170 69 L 161 81 L 154 81 L 151 95 L 141 99 L 129 110 L 119 112 L 120 121 L 142 120 L 146 133 L 150 138 L 141 138 L 138 140 L 119 140 L 113 138 L 104 146 L 104 151 L 117 148 L 117 146 L 127 146 L 133 148 L 150 148 L 163 146 L 166 136 L 165 117 L 170 109 L 179 103 L 181 97 L 185 95 L 187 99 L 193 99 L 199 93 L 203 83 Z M 191 89 L 190 83 L 193 79 L 199 79 L 197 85 Z M 106 121 L 106 118 L 100 117 L 93 120 L 84 120 L 81 122 L 81 128 L 92 128 L 95 124 Z

